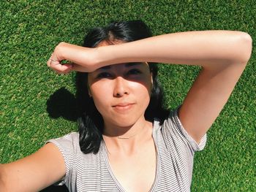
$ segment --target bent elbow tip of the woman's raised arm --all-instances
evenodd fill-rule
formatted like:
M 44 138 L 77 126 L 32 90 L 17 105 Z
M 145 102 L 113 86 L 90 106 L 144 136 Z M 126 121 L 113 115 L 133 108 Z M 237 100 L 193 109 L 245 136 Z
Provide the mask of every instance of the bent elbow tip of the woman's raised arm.
M 238 58 L 236 59 L 238 63 L 246 65 L 252 54 L 252 37 L 245 32 L 239 32 L 237 42 Z

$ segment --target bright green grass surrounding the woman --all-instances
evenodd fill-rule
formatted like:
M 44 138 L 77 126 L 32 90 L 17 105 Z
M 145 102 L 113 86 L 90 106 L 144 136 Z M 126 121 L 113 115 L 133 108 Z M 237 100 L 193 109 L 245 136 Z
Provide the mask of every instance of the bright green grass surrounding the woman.
M 106 3 L 108 2 L 108 3 Z M 47 101 L 75 74 L 46 66 L 61 41 L 80 44 L 89 28 L 112 20 L 142 19 L 154 34 L 227 29 L 256 37 L 253 1 L 1 1 L 0 163 L 34 153 L 50 138 L 76 130 L 67 117 L 50 118 Z M 255 45 L 255 43 L 254 43 Z M 256 191 L 255 50 L 219 118 L 205 150 L 195 155 L 192 191 Z M 194 66 L 161 66 L 167 106 L 184 99 L 198 72 Z

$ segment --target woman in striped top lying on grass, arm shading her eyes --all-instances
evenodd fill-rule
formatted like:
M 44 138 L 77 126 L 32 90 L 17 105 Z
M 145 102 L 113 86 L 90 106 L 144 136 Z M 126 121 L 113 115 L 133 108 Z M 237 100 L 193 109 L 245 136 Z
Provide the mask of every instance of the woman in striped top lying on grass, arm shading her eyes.
M 79 72 L 79 134 L 1 165 L 1 191 L 39 191 L 57 182 L 69 191 L 189 191 L 194 153 L 244 71 L 252 39 L 239 31 L 150 36 L 135 20 L 91 31 L 84 47 L 56 46 L 48 66 Z M 162 108 L 151 62 L 202 66 L 172 112 Z

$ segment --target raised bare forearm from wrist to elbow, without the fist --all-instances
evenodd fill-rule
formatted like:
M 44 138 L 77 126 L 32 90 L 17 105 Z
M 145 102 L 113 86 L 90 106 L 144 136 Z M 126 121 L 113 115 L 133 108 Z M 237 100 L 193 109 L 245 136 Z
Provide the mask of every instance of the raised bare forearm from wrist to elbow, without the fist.
M 213 66 L 245 64 L 252 49 L 240 31 L 189 31 L 99 47 L 99 66 L 132 61 Z

